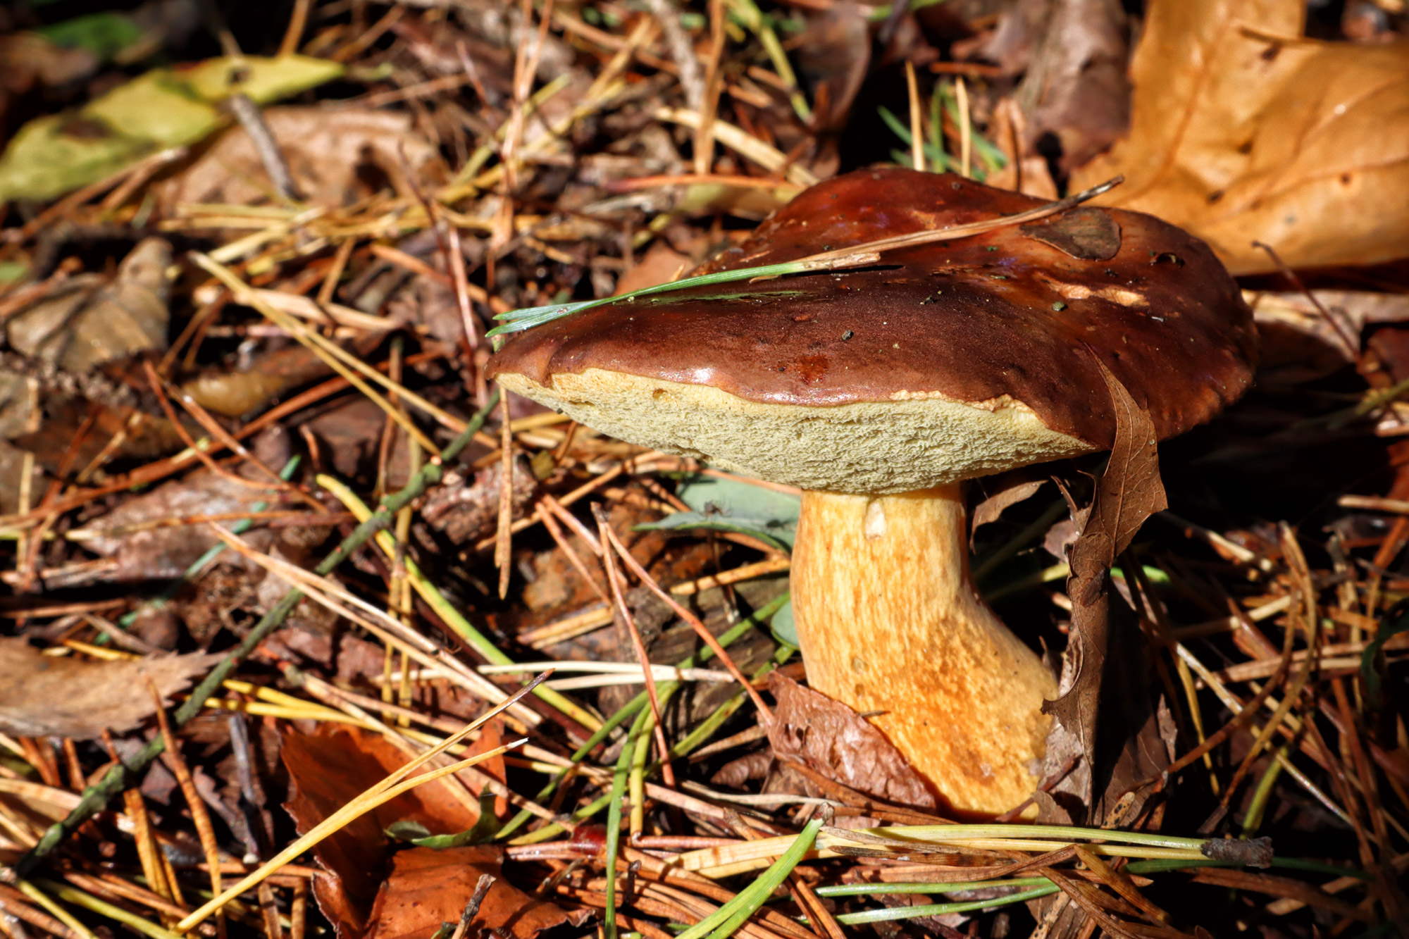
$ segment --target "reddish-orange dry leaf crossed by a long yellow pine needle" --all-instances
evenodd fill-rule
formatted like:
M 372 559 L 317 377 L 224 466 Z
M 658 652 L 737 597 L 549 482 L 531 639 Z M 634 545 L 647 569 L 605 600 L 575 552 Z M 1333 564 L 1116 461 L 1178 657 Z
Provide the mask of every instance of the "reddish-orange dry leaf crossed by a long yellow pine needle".
M 379 735 L 328 723 L 318 725 L 314 733 L 286 733 L 280 756 L 294 785 L 293 798 L 285 809 L 293 816 L 299 833 L 410 761 Z M 320 842 L 313 854 L 328 874 L 314 880 L 313 892 L 340 939 L 358 936 L 366 928 L 372 898 L 387 873 L 392 845 L 383 832 L 389 825 L 420 822 L 431 835 L 454 835 L 472 828 L 476 819 L 478 812 L 457 799 L 448 784 L 428 782 L 385 802 Z M 469 891 L 465 892 L 468 897 Z

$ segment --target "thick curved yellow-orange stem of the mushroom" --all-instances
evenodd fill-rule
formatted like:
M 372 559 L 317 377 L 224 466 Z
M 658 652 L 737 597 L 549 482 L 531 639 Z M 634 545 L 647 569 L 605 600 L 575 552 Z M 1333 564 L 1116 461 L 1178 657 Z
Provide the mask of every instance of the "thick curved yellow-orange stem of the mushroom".
M 998 815 L 1033 794 L 1057 682 L 969 579 L 960 484 L 805 492 L 792 596 L 809 684 L 881 712 L 947 808 Z

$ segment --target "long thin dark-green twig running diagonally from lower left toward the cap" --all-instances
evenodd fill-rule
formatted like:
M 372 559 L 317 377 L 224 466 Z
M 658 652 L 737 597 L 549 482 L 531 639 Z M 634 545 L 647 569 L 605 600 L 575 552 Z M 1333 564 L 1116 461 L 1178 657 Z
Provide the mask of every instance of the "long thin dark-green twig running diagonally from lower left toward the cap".
M 448 447 L 445 447 L 440 457 L 427 462 L 426 467 L 409 484 L 406 484 L 406 488 L 395 496 L 387 498 L 382 503 L 382 508 L 372 515 L 372 517 L 356 526 L 351 534 L 342 539 L 338 547 L 323 558 L 323 563 L 318 564 L 314 571 L 320 575 L 331 574 L 340 564 L 342 564 L 342 561 L 351 557 L 352 551 L 362 547 L 368 539 L 390 526 L 396 513 L 403 506 L 410 505 L 413 501 L 420 498 L 421 493 L 438 484 L 441 481 L 441 475 L 444 474 L 445 462 L 454 460 L 461 450 L 469 446 L 475 433 L 483 426 L 490 409 L 493 409 L 497 403 L 499 391 L 496 389 L 485 407 L 471 419 L 465 431 L 461 433 Z M 176 713 L 173 715 L 175 726 L 182 728 L 189 723 L 192 718 L 201 713 L 206 706 L 206 701 L 216 694 L 217 689 L 220 689 L 221 682 L 225 681 L 230 673 L 234 671 L 235 667 L 242 663 L 269 633 L 283 625 L 283 620 L 293 612 L 302 599 L 303 591 L 300 589 L 292 589 L 285 594 L 283 599 L 275 603 L 275 606 L 265 613 L 258 623 L 255 623 L 255 627 L 249 630 L 249 634 L 245 636 L 244 642 L 227 653 L 225 658 L 211 668 L 210 674 L 207 674 L 196 689 L 192 691 L 186 702 L 176 709 Z M 154 737 L 132 760 L 125 764 L 116 764 L 111 770 L 108 770 L 107 775 L 104 775 L 101 781 L 85 790 L 83 798 L 79 799 L 79 804 L 73 808 L 73 811 L 69 812 L 63 821 L 55 822 L 49 826 L 49 829 L 44 833 L 44 837 L 39 839 L 39 843 L 35 845 L 28 854 L 20 859 L 15 864 L 15 871 L 23 877 L 34 870 L 34 867 L 41 860 L 52 854 L 54 849 L 58 847 L 65 837 L 73 833 L 79 825 L 107 805 L 108 799 L 127 788 L 130 780 L 138 778 L 147 767 L 152 764 L 152 760 L 155 760 L 162 750 L 165 750 L 165 746 L 166 744 L 161 736 Z

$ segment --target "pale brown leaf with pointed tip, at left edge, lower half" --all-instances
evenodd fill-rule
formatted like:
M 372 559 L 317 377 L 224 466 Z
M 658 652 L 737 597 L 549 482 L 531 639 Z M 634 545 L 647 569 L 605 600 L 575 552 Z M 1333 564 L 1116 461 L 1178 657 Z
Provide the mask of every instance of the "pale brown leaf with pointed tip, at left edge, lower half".
M 103 730 L 131 730 L 156 711 L 148 678 L 169 698 L 217 658 L 89 661 L 45 656 L 24 639 L 0 639 L 0 732 L 90 740 Z

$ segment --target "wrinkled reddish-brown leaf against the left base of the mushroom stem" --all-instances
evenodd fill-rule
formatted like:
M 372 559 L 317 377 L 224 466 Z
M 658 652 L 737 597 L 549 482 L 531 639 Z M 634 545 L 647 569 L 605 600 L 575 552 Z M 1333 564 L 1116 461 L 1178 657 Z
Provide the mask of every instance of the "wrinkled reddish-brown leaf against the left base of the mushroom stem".
M 805 763 L 848 788 L 895 805 L 938 805 L 924 777 L 855 711 L 776 671 L 768 675 L 768 691 L 778 701 L 768 740 L 779 760 Z

